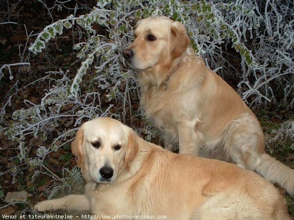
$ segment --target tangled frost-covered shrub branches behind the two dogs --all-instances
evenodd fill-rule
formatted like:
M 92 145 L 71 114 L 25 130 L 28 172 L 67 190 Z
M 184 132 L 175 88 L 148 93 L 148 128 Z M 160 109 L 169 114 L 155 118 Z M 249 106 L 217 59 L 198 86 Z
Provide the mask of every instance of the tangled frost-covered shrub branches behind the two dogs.
M 52 7 L 65 7 L 67 1 L 56 0 Z M 52 22 L 37 35 L 28 35 L 26 31 L 26 36 L 27 39 L 36 37 L 29 51 L 38 54 L 49 46 L 50 40 L 65 35 L 65 29 L 73 30 L 75 64 L 80 62 L 78 69 L 63 72 L 58 67 L 47 71 L 46 77 L 34 81 L 49 85 L 40 100 L 36 103 L 22 100 L 25 108 L 15 110 L 12 119 L 5 121 L 5 108 L 16 95 L 7 96 L 0 112 L 0 122 L 5 126 L 1 125 L 0 129 L 8 140 L 17 143 L 21 162 L 40 166 L 50 152 L 73 139 L 84 121 L 112 116 L 132 124 L 134 118 L 141 116 L 139 110 L 132 109 L 140 94 L 134 71 L 123 66 L 121 51 L 133 40 L 136 22 L 161 15 L 184 23 L 195 52 L 238 89 L 249 106 L 266 108 L 273 103 L 281 108 L 293 108 L 294 8 L 291 4 L 290 0 L 98 0 L 92 11 L 81 16 L 76 16 L 75 7 L 73 15 Z M 50 14 L 53 8 L 44 7 Z M 10 67 L 30 65 L 23 62 L 28 58 L 23 52 L 22 62 L 1 66 L 0 79 L 4 68 L 13 78 Z M 135 129 L 144 133 L 147 140 L 158 134 L 149 122 L 144 128 Z M 292 127 L 283 129 L 291 131 Z M 38 154 L 31 158 L 27 154 L 31 147 L 28 139 L 40 138 L 45 143 L 48 137 L 50 144 L 38 146 Z

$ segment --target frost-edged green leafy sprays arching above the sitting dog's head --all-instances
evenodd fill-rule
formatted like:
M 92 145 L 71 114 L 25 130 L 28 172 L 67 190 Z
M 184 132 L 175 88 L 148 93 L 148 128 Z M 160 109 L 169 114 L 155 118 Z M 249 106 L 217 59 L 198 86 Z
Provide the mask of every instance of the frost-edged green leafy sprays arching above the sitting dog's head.
M 112 5 L 110 6 L 109 4 Z M 224 9 L 224 11 L 233 10 L 250 15 L 253 11 L 252 8 L 246 8 L 245 6 L 233 3 L 215 4 L 206 1 L 184 3 L 178 0 L 150 1 L 149 7 L 144 7 L 142 2 L 138 0 L 124 0 L 120 2 L 98 0 L 97 6 L 89 14 L 78 18 L 74 18 L 71 15 L 67 19 L 47 26 L 29 48 L 34 53 L 41 52 L 45 48 L 44 41 L 48 42 L 56 36 L 56 33 L 62 34 L 63 27 L 71 28 L 75 21 L 87 31 L 88 41 L 74 45 L 74 49 L 79 51 L 77 57 L 83 60 L 70 89 L 70 95 L 74 97 L 77 96 L 82 78 L 87 74 L 87 70 L 92 65 L 96 55 L 98 55 L 100 63 L 97 66 L 97 73 L 100 73 L 106 64 L 112 64 L 118 67 L 118 71 L 110 69 L 110 74 L 113 76 L 112 82 L 119 80 L 121 71 L 119 71 L 120 67 L 117 66 L 117 63 L 120 59 L 120 50 L 125 45 L 124 43 L 129 42 L 132 38 L 129 31 L 132 29 L 133 23 L 148 16 L 170 16 L 174 21 L 182 23 L 193 22 L 193 18 L 196 18 L 197 25 L 195 27 L 188 26 L 193 41 L 192 46 L 196 53 L 202 55 L 205 53 L 203 46 L 207 41 L 211 41 L 213 44 L 222 44 L 222 40 L 226 39 L 232 42 L 232 46 L 237 52 L 240 52 L 247 65 L 255 64 L 251 51 L 242 43 L 238 33 L 226 22 L 221 12 L 221 9 Z M 106 28 L 110 39 L 105 39 L 97 34 L 97 31 L 93 29 L 94 23 Z M 109 88 L 108 97 L 110 100 L 114 98 L 112 88 Z

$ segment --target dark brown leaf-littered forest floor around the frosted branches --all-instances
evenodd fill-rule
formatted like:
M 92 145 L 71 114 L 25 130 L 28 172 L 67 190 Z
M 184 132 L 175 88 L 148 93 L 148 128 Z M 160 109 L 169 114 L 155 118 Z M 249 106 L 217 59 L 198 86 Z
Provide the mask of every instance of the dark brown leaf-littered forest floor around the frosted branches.
M 9 17 L 10 22 L 16 22 L 17 24 L 0 25 L 0 66 L 19 63 L 24 49 L 27 49 L 25 45 L 32 43 L 34 40 L 34 37 L 27 39 L 26 33 L 30 33 L 32 30 L 34 33 L 38 33 L 52 22 L 48 15 L 48 10 L 40 2 L 18 0 L 9 2 L 10 4 L 14 2 L 15 7 L 8 8 L 6 1 L 0 1 L 0 21 L 6 22 Z M 75 2 L 78 2 L 79 5 L 83 3 L 83 1 Z M 87 12 L 94 5 L 95 1 L 90 1 L 88 8 L 85 7 L 79 13 Z M 55 10 L 51 13 L 54 15 L 54 21 L 69 15 L 66 9 L 63 9 L 63 11 Z M 44 75 L 45 69 L 49 71 L 58 69 L 60 66 L 66 67 L 71 70 L 70 72 L 73 73 L 72 77 L 74 77 L 74 72 L 79 67 L 79 62 L 75 62 L 76 57 L 72 49 L 72 35 L 71 30 L 68 30 L 63 36 L 70 37 L 62 37 L 50 42 L 52 46 L 49 47 L 49 52 L 44 51 L 37 56 L 31 55 L 29 71 L 26 68 L 19 71 L 18 67 L 12 67 L 14 79 L 10 80 L 8 71 L 4 71 L 4 76 L 0 79 L 0 108 L 3 108 L 4 103 L 7 102 L 9 94 L 15 91 L 13 86 L 17 81 L 19 81 L 17 87 L 23 88 L 19 89 L 17 96 L 11 101 L 11 106 L 6 107 L 6 121 L 11 119 L 13 111 L 25 108 L 25 99 L 37 103 L 44 97 L 46 88 L 39 87 L 38 84 L 25 88 L 25 85 Z M 133 104 L 133 108 L 134 110 L 138 109 L 138 102 Z M 268 109 L 253 109 L 253 111 L 261 122 L 266 137 L 270 138 L 274 135 L 273 131 L 278 130 L 283 122 L 294 120 L 294 113 L 292 110 L 281 110 L 274 108 L 274 106 Z M 140 120 L 138 118 L 138 121 Z M 1 126 L 5 127 L 7 125 Z M 152 142 L 158 143 L 158 140 L 155 139 Z M 36 138 L 32 139 L 30 143 L 32 145 L 31 153 L 36 154 L 36 149 L 42 141 L 40 138 Z M 293 146 L 294 140 L 288 138 L 283 142 L 276 140 L 268 144 L 266 150 L 271 156 L 294 168 Z M 46 200 L 52 190 L 55 190 L 54 197 L 67 194 L 69 188 L 71 188 L 71 193 L 83 191 L 83 181 L 77 172 L 78 170 L 75 169 L 76 161 L 71 154 L 70 145 L 65 145 L 57 152 L 48 154 L 45 159 L 47 167 L 50 167 L 49 173 L 52 176 L 60 177 L 60 179 L 64 180 L 63 182 L 53 181 L 53 177 L 46 174 L 33 176 L 34 170 L 28 167 L 24 167 L 22 169 L 23 173 L 18 176 L 13 176 L 10 172 L 6 172 L 7 169 L 11 169 L 13 166 L 22 166 L 17 159 L 18 153 L 16 143 L 6 140 L 3 132 L 0 132 L 0 172 L 4 173 L 4 175 L 0 176 L 0 215 L 28 215 L 34 213 L 32 211 L 34 204 L 38 201 Z M 64 168 L 72 172 L 65 173 Z M 288 195 L 282 188 L 279 189 L 280 193 L 286 197 L 289 213 L 294 218 L 294 198 Z M 26 202 L 13 203 L 12 205 L 7 205 L 4 202 L 8 192 L 20 192 L 23 190 L 27 193 L 25 194 L 27 196 Z

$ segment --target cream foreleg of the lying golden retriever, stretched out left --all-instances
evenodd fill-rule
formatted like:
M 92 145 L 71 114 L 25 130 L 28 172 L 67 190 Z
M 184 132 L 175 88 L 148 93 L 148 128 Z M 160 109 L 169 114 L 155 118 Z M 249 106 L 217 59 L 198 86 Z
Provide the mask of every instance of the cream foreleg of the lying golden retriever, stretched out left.
M 34 206 L 34 210 L 38 212 L 52 210 L 90 211 L 90 200 L 86 195 L 68 195 L 62 198 L 38 202 Z

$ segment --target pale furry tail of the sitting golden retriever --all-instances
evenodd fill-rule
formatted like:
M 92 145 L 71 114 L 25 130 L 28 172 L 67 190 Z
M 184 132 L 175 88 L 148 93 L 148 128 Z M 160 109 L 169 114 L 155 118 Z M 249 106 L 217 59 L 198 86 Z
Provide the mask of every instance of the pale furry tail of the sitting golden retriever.
M 294 170 L 269 154 L 262 154 L 260 159 L 261 162 L 256 166 L 256 172 L 270 182 L 278 183 L 291 196 L 294 196 Z

